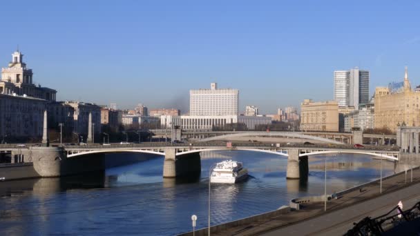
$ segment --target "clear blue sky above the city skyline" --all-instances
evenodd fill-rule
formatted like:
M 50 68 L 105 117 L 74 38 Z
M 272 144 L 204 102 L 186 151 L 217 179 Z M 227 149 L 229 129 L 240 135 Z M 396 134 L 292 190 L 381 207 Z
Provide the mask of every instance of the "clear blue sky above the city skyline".
M 420 81 L 420 1 L 2 1 L 0 66 L 17 44 L 60 100 L 189 107 L 189 89 L 240 90 L 265 113 L 333 98 L 334 70 L 370 91 Z

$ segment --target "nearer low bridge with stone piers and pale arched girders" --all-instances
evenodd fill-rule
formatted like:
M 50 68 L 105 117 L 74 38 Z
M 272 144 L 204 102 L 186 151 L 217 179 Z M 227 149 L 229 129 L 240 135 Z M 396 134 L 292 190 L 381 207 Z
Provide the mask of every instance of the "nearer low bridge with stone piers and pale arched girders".
M 71 175 L 104 168 L 101 165 L 106 153 L 148 153 L 164 156 L 163 177 L 174 178 L 200 175 L 200 153 L 213 150 L 247 150 L 270 153 L 287 158 L 287 179 L 299 179 L 307 175 L 309 155 L 353 153 L 399 160 L 399 149 L 383 146 L 354 148 L 350 145 L 285 145 L 263 143 L 195 142 L 189 144 L 111 144 L 87 146 L 0 146 L 0 153 L 8 153 L 12 159 L 33 161 L 34 168 L 42 177 Z M 99 163 L 99 164 L 98 164 Z

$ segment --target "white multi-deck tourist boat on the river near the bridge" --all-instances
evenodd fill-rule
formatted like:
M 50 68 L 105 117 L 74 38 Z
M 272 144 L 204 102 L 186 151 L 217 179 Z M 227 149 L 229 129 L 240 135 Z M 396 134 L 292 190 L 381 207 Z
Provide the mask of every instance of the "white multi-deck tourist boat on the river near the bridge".
M 216 164 L 210 176 L 211 183 L 234 184 L 248 177 L 248 170 L 243 168 L 242 162 L 222 161 Z

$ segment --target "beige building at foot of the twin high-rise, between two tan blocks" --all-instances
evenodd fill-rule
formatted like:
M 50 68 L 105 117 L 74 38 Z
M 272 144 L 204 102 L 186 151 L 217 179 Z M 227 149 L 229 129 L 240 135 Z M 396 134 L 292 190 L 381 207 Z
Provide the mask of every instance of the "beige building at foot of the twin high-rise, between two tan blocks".
M 374 128 L 374 105 L 365 104 L 359 106 L 359 110 L 354 110 L 344 116 L 345 132 L 352 131 L 352 128 L 365 130 Z

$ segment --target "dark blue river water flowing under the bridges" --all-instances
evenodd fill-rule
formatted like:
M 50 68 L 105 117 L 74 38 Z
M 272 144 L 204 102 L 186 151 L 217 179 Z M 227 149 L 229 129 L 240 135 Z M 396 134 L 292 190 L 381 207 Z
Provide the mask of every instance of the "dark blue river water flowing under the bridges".
M 163 179 L 163 157 L 86 175 L 0 182 L 0 235 L 175 235 L 207 226 L 209 167 L 233 159 L 249 179 L 211 185 L 211 224 L 288 205 L 294 197 L 322 195 L 380 177 L 380 160 L 364 155 L 309 157 L 307 181 L 286 180 L 287 159 L 247 151 L 204 152 L 197 179 Z M 124 155 L 118 156 L 124 158 Z M 394 163 L 383 161 L 383 176 Z

